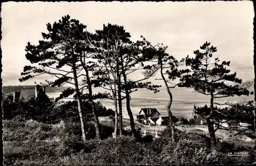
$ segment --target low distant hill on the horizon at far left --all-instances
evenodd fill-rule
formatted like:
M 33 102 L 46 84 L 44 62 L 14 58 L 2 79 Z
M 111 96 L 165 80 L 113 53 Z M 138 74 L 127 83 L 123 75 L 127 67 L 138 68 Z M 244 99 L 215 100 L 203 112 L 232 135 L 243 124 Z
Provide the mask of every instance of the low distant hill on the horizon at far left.
M 65 89 L 67 89 L 68 86 L 62 86 L 62 87 L 51 87 L 51 86 L 47 86 L 46 87 L 46 92 L 47 93 L 54 93 L 54 92 L 61 92 Z M 35 89 L 35 85 L 24 85 L 24 86 L 3 86 L 3 93 L 4 94 L 8 94 L 8 93 L 12 93 L 15 91 L 19 91 L 22 89 Z

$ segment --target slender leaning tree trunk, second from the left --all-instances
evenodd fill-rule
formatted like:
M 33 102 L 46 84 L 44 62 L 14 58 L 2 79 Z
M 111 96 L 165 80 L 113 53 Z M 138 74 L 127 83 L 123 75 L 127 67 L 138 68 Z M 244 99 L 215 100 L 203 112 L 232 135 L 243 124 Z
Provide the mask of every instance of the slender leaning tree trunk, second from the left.
M 83 64 L 83 68 L 86 71 L 87 85 L 88 85 L 88 90 L 89 90 L 89 102 L 92 105 L 92 110 L 93 110 L 93 115 L 94 115 L 94 120 L 95 120 L 96 137 L 101 138 L 100 130 L 99 130 L 99 118 L 96 114 L 95 103 L 93 101 L 92 83 L 91 83 L 91 80 L 89 77 L 89 71 L 88 71 L 88 68 L 85 66 L 85 64 Z

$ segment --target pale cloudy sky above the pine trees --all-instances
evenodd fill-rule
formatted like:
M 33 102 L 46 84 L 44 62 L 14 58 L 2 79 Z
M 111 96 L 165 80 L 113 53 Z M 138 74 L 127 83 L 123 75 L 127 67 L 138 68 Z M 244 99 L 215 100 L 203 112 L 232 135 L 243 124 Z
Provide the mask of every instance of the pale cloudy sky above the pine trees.
M 132 40 L 143 35 L 152 43 L 168 46 L 177 59 L 193 56 L 205 41 L 217 46 L 215 57 L 231 61 L 229 69 L 242 80 L 253 79 L 253 3 L 237 2 L 7 2 L 2 3 L 3 85 L 34 85 L 49 76 L 20 83 L 25 65 L 25 46 L 37 44 L 46 24 L 69 14 L 88 26 L 102 29 L 103 23 L 124 26 Z M 135 73 L 131 77 L 136 78 Z M 157 77 L 159 74 L 157 74 Z

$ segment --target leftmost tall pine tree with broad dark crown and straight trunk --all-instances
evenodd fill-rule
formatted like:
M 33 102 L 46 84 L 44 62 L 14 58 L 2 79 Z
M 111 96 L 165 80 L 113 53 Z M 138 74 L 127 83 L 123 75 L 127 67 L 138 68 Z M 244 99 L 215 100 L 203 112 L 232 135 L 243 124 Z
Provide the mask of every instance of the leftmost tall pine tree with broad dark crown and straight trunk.
M 82 76 L 78 73 L 80 73 L 82 66 L 76 48 L 81 45 L 80 40 L 82 39 L 77 29 L 82 31 L 85 28 L 86 26 L 79 23 L 78 20 L 70 19 L 69 15 L 62 17 L 58 22 L 54 22 L 53 25 L 48 23 L 48 33 L 42 33 L 44 40 L 39 40 L 37 45 L 28 42 L 26 58 L 36 65 L 25 66 L 24 72 L 21 74 L 25 77 L 19 79 L 22 82 L 40 75 L 50 75 L 56 78 L 55 81 L 46 80 L 51 86 L 72 84 L 75 87 L 83 140 L 86 140 L 86 132 L 84 131 L 78 85 L 78 78 Z

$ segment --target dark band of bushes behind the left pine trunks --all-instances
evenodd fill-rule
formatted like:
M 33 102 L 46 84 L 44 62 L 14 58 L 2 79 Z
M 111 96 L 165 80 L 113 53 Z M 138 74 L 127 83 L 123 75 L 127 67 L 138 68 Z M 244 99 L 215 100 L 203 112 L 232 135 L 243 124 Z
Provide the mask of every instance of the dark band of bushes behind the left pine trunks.
M 55 106 L 50 102 L 45 102 L 46 100 L 40 101 L 38 97 L 29 101 L 16 100 L 15 102 L 4 99 L 4 120 L 24 118 L 25 120 L 32 119 L 47 124 L 56 124 L 60 121 L 79 121 L 79 114 L 76 111 L 78 107 L 76 101 L 69 101 L 65 104 Z M 81 107 L 84 121 L 93 122 L 92 105 L 88 101 L 82 101 Z M 96 103 L 95 108 L 97 116 L 110 116 L 114 114 L 113 110 L 106 109 L 100 102 Z

